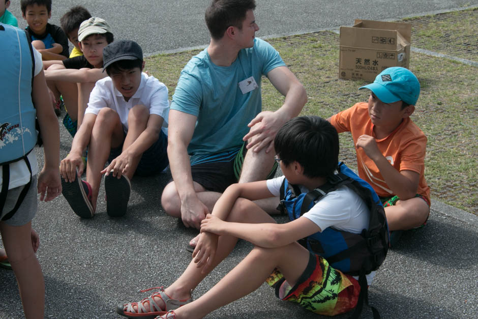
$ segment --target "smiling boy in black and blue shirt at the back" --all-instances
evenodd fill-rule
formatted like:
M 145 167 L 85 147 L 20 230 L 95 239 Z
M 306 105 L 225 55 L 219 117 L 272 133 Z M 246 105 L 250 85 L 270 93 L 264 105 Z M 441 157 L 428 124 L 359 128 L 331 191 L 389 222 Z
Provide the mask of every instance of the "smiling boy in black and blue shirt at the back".
M 51 17 L 51 0 L 21 0 L 20 8 L 26 20 L 33 46 L 43 60 L 65 60 L 69 55 L 68 38 L 63 30 L 48 23 Z

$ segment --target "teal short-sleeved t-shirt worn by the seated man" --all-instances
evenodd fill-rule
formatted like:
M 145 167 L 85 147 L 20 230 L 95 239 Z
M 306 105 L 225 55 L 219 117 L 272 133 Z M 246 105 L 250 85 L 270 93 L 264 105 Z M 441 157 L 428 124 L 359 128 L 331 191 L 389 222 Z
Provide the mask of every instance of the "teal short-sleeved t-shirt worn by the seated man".
M 191 165 L 242 146 L 247 124 L 262 108 L 262 75 L 280 66 L 285 63 L 279 52 L 258 38 L 228 67 L 213 64 L 207 48 L 192 57 L 181 71 L 171 102 L 171 109 L 197 117 L 188 146 Z M 243 94 L 238 83 L 251 76 L 258 87 Z

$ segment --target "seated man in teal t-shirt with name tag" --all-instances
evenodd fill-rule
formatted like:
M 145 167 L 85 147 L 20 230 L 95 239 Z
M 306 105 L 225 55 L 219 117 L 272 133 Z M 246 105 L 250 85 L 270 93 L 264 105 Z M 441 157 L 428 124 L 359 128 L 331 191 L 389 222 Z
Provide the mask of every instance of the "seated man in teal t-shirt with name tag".
M 307 101 L 279 53 L 255 38 L 255 6 L 255 0 L 213 0 L 205 13 L 210 45 L 183 69 L 172 98 L 168 157 L 173 181 L 161 204 L 187 227 L 199 228 L 230 184 L 274 175 L 274 137 Z M 275 112 L 261 112 L 263 75 L 285 96 Z M 271 212 L 275 206 L 262 207 Z

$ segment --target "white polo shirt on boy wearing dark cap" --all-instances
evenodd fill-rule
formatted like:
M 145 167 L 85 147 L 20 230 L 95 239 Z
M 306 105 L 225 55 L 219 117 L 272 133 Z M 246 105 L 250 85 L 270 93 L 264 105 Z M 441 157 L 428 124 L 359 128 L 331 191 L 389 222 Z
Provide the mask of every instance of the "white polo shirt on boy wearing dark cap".
M 148 76 L 141 73 L 141 83 L 136 93 L 125 101 L 125 98 L 114 87 L 111 78 L 105 77 L 98 80 L 92 93 L 89 95 L 88 107 L 86 113 L 97 114 L 103 107 L 109 107 L 116 111 L 123 124 L 123 130 L 128 132 L 128 113 L 135 105 L 144 105 L 150 109 L 150 114 L 157 114 L 163 118 L 163 128 L 167 127 L 169 101 L 168 89 L 166 85 L 160 82 L 154 76 Z

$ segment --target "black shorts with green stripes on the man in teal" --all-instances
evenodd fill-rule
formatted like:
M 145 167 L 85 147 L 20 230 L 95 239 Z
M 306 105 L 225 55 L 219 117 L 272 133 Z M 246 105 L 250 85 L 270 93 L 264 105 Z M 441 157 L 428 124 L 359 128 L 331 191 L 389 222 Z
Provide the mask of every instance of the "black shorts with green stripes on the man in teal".
M 220 160 L 199 163 L 191 166 L 193 181 L 208 191 L 223 193 L 226 188 L 237 183 L 241 176 L 241 169 L 247 153 L 246 142 L 237 152 L 222 156 Z M 271 179 L 276 175 L 277 162 L 267 175 Z

